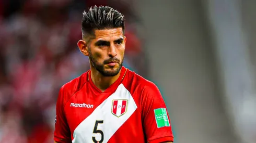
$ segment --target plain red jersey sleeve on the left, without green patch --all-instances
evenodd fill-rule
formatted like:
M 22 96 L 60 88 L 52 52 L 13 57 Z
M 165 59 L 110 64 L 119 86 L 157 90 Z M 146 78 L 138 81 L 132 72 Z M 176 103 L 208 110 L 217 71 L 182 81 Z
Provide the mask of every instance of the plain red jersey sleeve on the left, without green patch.
M 56 116 L 55 116 L 55 131 L 54 140 L 60 143 L 71 142 L 71 132 L 67 125 L 67 121 L 64 114 L 64 87 L 60 89 L 59 96 L 56 103 Z

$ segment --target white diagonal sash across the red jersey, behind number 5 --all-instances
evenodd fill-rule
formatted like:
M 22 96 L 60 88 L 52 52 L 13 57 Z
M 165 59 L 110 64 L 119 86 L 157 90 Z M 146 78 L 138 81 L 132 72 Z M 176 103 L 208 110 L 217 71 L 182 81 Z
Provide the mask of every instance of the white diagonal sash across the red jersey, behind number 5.
M 127 100 L 126 112 L 121 116 L 115 116 L 112 114 L 112 101 L 116 99 Z M 103 143 L 113 136 L 115 132 L 127 121 L 133 112 L 137 109 L 136 103 L 133 100 L 130 92 L 120 84 L 111 96 L 104 100 L 95 110 L 92 112 L 82 123 L 80 123 L 74 131 L 74 139 L 72 143 L 82 142 L 94 142 L 92 137 L 96 137 L 96 140 L 101 140 L 100 133 L 93 133 L 95 129 L 95 123 L 98 120 L 97 131 L 103 132 Z M 121 111 L 119 111 L 121 113 Z

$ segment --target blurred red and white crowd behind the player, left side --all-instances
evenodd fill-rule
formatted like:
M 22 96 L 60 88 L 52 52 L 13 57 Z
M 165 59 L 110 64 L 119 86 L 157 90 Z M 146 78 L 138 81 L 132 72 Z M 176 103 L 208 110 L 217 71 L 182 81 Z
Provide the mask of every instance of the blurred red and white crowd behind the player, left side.
M 82 12 L 94 5 L 125 15 L 124 66 L 147 76 L 131 1 L 0 0 L 0 142 L 53 142 L 59 89 L 89 69 L 76 45 Z

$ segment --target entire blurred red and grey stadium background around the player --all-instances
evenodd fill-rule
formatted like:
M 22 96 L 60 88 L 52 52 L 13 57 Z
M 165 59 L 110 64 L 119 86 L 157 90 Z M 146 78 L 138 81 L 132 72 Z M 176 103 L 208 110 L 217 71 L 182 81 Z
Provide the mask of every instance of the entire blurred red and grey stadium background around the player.
M 0 0 L 1 143 L 53 142 L 57 93 L 89 69 L 76 43 L 94 5 L 125 15 L 124 66 L 161 89 L 174 142 L 256 142 L 256 1 Z

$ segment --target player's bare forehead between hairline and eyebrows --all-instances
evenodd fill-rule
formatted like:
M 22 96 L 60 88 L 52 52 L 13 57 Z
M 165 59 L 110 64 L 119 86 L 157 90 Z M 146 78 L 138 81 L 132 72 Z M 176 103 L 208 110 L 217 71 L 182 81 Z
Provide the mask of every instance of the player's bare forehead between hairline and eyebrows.
M 122 28 L 95 30 L 95 40 L 112 41 L 123 37 Z

